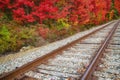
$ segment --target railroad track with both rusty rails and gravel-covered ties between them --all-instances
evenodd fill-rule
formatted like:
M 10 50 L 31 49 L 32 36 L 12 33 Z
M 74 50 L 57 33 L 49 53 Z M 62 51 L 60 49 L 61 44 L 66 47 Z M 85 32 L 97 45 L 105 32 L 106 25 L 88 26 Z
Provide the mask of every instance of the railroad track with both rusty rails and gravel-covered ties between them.
M 0 79 L 92 80 L 92 75 L 98 72 L 96 69 L 98 59 L 118 25 L 119 22 L 114 22 L 103 26 L 35 61 L 2 75 Z M 95 76 L 99 77 L 99 75 Z

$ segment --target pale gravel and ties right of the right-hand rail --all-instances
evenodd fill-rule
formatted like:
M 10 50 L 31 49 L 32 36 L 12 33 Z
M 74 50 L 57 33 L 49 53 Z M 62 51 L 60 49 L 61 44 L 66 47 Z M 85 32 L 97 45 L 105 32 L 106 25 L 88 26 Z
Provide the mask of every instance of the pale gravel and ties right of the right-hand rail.
M 94 76 L 98 80 L 120 80 L 120 24 L 103 53 Z

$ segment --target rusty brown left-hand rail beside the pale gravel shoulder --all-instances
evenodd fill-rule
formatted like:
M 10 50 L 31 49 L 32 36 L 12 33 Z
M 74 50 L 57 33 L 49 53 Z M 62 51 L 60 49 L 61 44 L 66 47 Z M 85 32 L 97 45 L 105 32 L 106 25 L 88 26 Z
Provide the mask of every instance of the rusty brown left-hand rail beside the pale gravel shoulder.
M 94 30 L 93 32 L 91 32 L 89 34 L 86 34 L 85 36 L 83 36 L 83 37 L 81 37 L 81 38 L 79 38 L 79 39 L 77 39 L 77 40 L 75 40 L 75 41 L 73 41 L 71 43 L 68 43 L 67 45 L 65 45 L 63 47 L 60 47 L 60 48 L 58 48 L 56 50 L 53 50 L 52 52 L 50 52 L 50 53 L 48 53 L 48 54 L 46 54 L 46 55 L 44 55 L 44 56 L 42 56 L 40 58 L 37 58 L 34 61 L 29 62 L 28 64 L 25 64 L 22 67 L 19 67 L 19 68 L 15 69 L 14 71 L 11 71 L 11 72 L 9 72 L 7 74 L 4 74 L 4 75 L 0 76 L 0 80 L 15 80 L 15 79 L 17 80 L 18 77 L 22 76 L 23 73 L 35 68 L 36 66 L 38 66 L 40 64 L 42 64 L 43 61 L 48 60 L 48 59 L 50 59 L 52 57 L 55 57 L 57 54 L 60 54 L 61 51 L 63 51 L 65 49 L 67 49 L 68 47 L 80 42 L 81 40 L 83 40 L 83 39 L 87 38 L 88 36 L 98 32 L 99 30 L 107 27 L 108 25 L 110 25 L 112 23 L 113 22 L 111 22 L 109 24 L 106 24 L 103 27 L 101 27 L 101 28 L 99 28 L 97 30 Z

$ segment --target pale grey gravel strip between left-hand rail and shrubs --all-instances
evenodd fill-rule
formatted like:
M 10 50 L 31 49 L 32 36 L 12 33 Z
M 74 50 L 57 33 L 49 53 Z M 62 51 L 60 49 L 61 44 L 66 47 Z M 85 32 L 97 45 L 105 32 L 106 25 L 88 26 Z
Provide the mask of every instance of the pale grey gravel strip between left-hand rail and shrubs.
M 98 28 L 101 28 L 109 23 L 106 23 L 106 24 L 98 26 L 98 27 L 94 27 L 87 31 L 79 32 L 71 37 L 66 38 L 66 39 L 56 41 L 56 42 L 50 43 L 48 45 L 30 50 L 27 52 L 26 55 L 24 55 L 22 57 L 17 57 L 17 58 L 8 60 L 5 63 L 0 63 L 0 74 L 10 72 L 18 67 L 21 67 L 22 65 L 27 64 L 28 62 L 31 62 L 31 61 L 35 60 L 36 58 L 39 58 L 43 55 L 46 55 L 49 52 L 51 52 L 59 47 L 62 47 L 74 40 L 77 40 L 77 39 L 81 38 L 82 36 L 89 34 L 90 32 L 92 32 Z

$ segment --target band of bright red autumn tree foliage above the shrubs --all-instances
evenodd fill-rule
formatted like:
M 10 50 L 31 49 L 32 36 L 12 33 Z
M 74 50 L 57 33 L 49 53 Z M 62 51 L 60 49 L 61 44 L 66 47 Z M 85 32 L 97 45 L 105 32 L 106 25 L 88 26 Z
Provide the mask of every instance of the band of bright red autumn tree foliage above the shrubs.
M 119 1 L 115 0 L 118 11 Z M 99 24 L 107 20 L 110 6 L 111 0 L 0 0 L 2 12 L 9 9 L 14 20 L 24 23 L 67 18 L 70 23 Z

